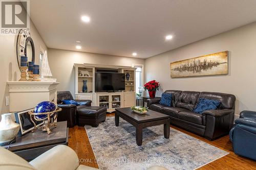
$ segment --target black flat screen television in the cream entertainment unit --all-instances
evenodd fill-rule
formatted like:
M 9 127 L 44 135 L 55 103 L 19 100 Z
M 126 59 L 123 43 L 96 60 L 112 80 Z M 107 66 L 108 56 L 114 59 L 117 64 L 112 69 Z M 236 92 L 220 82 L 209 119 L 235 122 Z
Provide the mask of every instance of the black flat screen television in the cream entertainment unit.
M 95 72 L 96 92 L 120 90 L 125 90 L 125 75 L 123 73 Z

